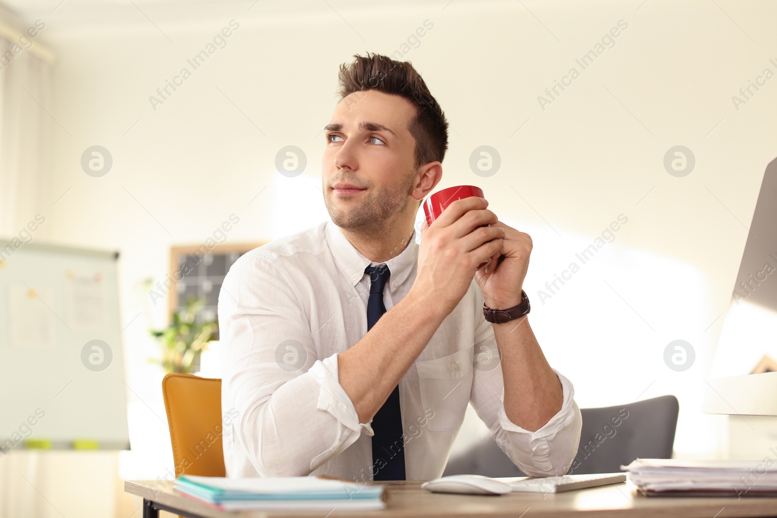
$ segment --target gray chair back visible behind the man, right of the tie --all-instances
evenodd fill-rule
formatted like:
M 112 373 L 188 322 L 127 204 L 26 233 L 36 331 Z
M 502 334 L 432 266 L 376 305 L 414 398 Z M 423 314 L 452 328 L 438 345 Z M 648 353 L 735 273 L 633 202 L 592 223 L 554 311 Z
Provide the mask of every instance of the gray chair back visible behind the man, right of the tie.
M 628 405 L 581 408 L 580 447 L 567 475 L 622 471 L 621 464 L 637 457 L 671 458 L 679 409 L 673 395 Z M 491 437 L 448 460 L 443 475 L 462 474 L 525 476 Z

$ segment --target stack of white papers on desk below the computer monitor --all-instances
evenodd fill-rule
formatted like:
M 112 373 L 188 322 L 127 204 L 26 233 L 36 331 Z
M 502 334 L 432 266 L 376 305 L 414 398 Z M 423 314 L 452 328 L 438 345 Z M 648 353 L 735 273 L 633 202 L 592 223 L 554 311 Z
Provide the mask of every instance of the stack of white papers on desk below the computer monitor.
M 629 481 L 649 496 L 777 496 L 777 461 L 637 459 Z

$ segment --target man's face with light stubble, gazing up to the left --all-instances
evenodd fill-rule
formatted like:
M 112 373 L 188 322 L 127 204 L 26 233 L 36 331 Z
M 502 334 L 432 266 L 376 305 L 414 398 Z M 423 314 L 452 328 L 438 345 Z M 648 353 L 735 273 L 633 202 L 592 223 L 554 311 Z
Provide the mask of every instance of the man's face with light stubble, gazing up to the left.
M 354 92 L 336 106 L 326 127 L 324 203 L 338 227 L 375 231 L 408 210 L 416 183 L 416 139 L 408 130 L 416 108 L 376 90 Z

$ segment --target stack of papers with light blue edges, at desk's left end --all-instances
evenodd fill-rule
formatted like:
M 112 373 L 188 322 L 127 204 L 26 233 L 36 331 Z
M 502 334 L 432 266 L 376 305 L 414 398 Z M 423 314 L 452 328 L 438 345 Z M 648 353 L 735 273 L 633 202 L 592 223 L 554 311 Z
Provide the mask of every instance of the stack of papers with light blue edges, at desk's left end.
M 383 486 L 317 477 L 221 478 L 184 475 L 176 491 L 225 511 L 383 509 Z

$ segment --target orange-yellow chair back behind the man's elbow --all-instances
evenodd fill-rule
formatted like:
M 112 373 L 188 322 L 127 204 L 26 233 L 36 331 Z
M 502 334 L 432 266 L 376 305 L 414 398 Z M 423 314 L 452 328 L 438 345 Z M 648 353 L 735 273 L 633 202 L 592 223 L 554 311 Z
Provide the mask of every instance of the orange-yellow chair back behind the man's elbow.
M 180 475 L 225 477 L 221 380 L 167 374 L 162 380 L 172 458 Z

